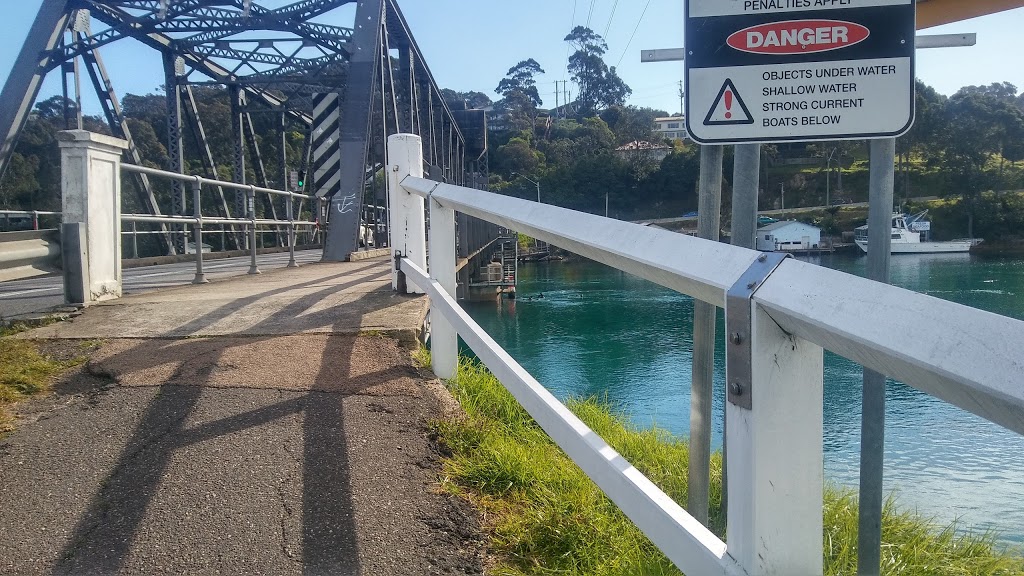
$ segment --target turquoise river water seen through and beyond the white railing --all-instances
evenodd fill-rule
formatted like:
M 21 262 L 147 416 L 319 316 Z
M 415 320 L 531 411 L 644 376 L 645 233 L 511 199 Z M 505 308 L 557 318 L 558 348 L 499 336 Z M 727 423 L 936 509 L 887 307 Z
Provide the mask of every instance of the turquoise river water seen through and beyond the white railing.
M 802 259 L 866 276 L 863 256 Z M 513 358 L 560 399 L 596 396 L 637 426 L 688 436 L 691 298 L 589 261 L 523 264 L 519 273 L 518 300 L 464 304 Z M 1024 320 L 1024 260 L 901 254 L 891 275 L 897 286 Z M 723 331 L 719 311 L 715 448 Z M 825 477 L 856 488 L 862 369 L 828 352 L 824 366 Z M 1024 438 L 890 380 L 885 458 L 886 490 L 902 507 L 1024 543 Z

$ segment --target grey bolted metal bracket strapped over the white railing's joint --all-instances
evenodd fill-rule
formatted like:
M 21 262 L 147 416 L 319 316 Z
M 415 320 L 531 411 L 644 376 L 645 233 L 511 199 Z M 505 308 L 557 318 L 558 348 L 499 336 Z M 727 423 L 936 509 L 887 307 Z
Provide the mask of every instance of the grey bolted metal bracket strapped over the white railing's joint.
M 782 252 L 762 253 L 726 292 L 726 389 L 729 402 L 740 408 L 752 410 L 754 406 L 751 299 L 788 256 Z

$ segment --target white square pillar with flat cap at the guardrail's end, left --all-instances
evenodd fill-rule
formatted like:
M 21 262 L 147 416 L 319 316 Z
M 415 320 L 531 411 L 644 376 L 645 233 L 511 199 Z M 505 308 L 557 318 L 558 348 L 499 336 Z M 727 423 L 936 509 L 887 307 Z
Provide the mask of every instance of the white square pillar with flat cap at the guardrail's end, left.
M 85 224 L 85 302 L 121 296 L 121 155 L 123 139 L 85 130 L 57 133 L 63 222 Z

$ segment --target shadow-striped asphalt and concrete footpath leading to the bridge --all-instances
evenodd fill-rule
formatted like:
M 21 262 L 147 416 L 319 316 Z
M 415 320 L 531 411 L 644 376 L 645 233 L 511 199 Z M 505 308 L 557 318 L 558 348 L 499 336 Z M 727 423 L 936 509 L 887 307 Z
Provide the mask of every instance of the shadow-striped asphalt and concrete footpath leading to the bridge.
M 391 292 L 390 263 L 23 333 L 91 352 L 0 440 L 0 574 L 481 574 L 475 511 L 437 490 L 429 424 L 457 407 L 410 359 L 426 301 Z

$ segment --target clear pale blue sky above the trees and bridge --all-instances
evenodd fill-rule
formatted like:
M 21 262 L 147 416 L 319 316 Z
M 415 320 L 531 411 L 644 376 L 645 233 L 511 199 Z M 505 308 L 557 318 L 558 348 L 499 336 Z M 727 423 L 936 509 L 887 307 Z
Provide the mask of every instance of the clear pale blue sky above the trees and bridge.
M 257 2 L 268 7 L 288 3 L 286 0 Z M 0 36 L 0 75 L 4 79 L 40 3 L 41 0 L 5 2 L 8 32 Z M 646 13 L 641 19 L 645 6 Z M 679 111 L 682 63 L 641 64 L 640 50 L 683 45 L 681 0 L 649 0 L 649 5 L 646 0 L 404 0 L 401 7 L 441 87 L 479 90 L 495 97 L 493 90 L 508 69 L 532 57 L 547 72 L 539 78 L 545 106 L 554 106 L 555 81 L 568 79 L 565 72 L 568 52 L 562 38 L 571 26 L 586 26 L 589 22 L 590 28 L 608 41 L 606 61 L 617 64 L 620 76 L 633 88 L 630 104 L 670 113 Z M 342 10 L 337 17 L 325 22 L 350 26 L 351 11 Z M 1024 9 L 929 30 L 929 33 L 975 32 L 978 45 L 920 50 L 918 76 L 944 94 L 965 85 L 1001 81 L 1024 88 L 1024 66 L 1019 64 L 1024 51 L 1022 28 Z M 101 54 L 119 94 L 153 92 L 163 83 L 159 55 L 140 44 L 122 41 L 103 48 Z M 83 89 L 87 92 L 86 87 Z M 59 89 L 56 78 L 50 78 L 43 87 L 42 97 L 59 93 Z M 86 112 L 98 113 L 94 100 L 86 99 L 84 106 Z

